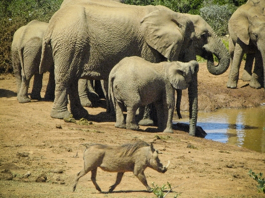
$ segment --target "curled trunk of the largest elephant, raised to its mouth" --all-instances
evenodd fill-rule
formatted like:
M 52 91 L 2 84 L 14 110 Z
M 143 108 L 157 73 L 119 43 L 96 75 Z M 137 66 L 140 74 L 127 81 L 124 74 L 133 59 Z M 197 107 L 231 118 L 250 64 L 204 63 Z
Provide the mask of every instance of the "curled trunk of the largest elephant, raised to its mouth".
M 207 59 L 208 71 L 213 75 L 220 75 L 228 69 L 230 56 L 222 40 L 214 32 L 211 35 L 208 44 L 203 46 L 206 51 L 203 58 Z M 214 65 L 213 54 L 219 61 L 217 66 Z

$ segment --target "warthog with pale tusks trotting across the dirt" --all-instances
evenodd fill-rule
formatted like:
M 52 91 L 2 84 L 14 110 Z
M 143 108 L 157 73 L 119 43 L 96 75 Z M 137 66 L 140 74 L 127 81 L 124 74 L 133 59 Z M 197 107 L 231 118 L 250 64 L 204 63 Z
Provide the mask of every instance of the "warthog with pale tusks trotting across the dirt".
M 123 174 L 130 171 L 143 183 L 148 191 L 151 191 L 150 186 L 147 184 L 144 170 L 150 167 L 160 173 L 165 173 L 170 163 L 167 166 L 163 166 L 158 158 L 158 151 L 154 149 L 153 144 L 150 145 L 142 140 L 129 142 L 121 146 L 97 143 L 85 146 L 87 148 L 84 151 L 84 168 L 76 176 L 73 192 L 76 190 L 78 180 L 89 171 L 91 171 L 91 181 L 96 190 L 101 192 L 95 179 L 97 167 L 104 171 L 118 173 L 115 184 L 109 187 L 109 193 L 120 183 Z

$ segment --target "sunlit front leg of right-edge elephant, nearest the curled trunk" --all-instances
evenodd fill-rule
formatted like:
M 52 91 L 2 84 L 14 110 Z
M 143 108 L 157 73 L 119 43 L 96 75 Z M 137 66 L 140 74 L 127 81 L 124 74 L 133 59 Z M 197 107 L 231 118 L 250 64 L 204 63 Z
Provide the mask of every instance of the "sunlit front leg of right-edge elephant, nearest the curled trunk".
M 233 65 L 231 65 L 229 79 L 226 83 L 226 86 L 232 89 L 237 88 L 238 77 L 239 77 L 239 67 L 240 67 L 240 64 L 241 64 L 241 61 L 244 55 L 244 52 L 241 46 L 243 44 L 241 43 L 242 41 L 238 39 L 238 42 L 236 43 L 235 51 L 234 51 Z

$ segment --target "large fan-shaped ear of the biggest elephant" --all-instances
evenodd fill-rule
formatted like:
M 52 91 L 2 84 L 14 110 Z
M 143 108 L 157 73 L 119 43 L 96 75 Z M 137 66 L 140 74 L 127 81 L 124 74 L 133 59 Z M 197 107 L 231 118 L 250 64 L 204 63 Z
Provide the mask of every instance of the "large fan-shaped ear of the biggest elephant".
M 140 23 L 147 44 L 170 61 L 177 61 L 190 19 L 181 13 L 162 9 L 146 15 Z

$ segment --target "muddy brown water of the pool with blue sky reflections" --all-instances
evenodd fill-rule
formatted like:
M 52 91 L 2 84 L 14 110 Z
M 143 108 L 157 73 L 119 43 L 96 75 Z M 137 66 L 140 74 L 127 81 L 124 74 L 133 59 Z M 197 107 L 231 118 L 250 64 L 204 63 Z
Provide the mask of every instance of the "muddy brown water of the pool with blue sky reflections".
M 174 123 L 188 123 L 188 112 Z M 216 112 L 199 112 L 197 126 L 207 132 L 206 139 L 265 152 L 265 106 L 248 109 L 221 109 Z

